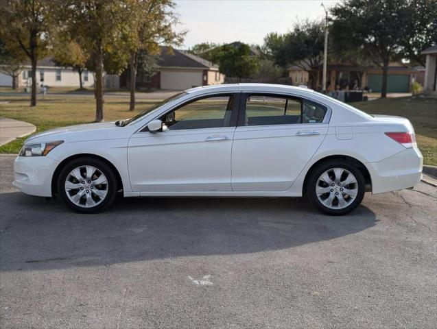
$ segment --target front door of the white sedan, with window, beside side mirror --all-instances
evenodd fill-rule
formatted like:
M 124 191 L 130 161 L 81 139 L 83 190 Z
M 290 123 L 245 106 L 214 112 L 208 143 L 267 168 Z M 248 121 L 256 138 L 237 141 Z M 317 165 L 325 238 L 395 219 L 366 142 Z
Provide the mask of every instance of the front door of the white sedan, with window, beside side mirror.
M 187 101 L 159 119 L 162 132 L 130 138 L 132 191 L 231 191 L 231 149 L 239 94 Z

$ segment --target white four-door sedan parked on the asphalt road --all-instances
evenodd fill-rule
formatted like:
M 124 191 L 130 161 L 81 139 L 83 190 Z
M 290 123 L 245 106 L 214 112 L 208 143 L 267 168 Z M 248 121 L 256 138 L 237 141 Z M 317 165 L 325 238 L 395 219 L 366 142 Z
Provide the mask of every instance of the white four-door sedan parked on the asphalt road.
M 307 88 L 227 84 L 186 90 L 132 119 L 28 138 L 14 186 L 79 212 L 125 197 L 301 197 L 342 215 L 364 192 L 418 184 L 407 119 L 369 115 Z

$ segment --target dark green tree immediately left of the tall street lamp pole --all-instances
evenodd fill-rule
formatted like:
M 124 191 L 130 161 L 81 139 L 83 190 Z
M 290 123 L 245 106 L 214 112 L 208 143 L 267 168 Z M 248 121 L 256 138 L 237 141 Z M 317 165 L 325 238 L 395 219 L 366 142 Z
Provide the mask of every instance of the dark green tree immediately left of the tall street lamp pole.
M 311 87 L 318 88 L 320 65 L 323 61 L 324 23 L 305 21 L 296 23 L 291 32 L 268 34 L 263 50 L 283 68 L 296 65 L 311 75 Z

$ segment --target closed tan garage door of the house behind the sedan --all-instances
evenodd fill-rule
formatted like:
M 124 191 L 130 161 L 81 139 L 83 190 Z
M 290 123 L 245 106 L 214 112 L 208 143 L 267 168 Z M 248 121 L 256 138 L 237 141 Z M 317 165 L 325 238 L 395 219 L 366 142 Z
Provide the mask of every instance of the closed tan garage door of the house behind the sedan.
M 185 90 L 202 86 L 202 71 L 161 71 L 161 89 Z

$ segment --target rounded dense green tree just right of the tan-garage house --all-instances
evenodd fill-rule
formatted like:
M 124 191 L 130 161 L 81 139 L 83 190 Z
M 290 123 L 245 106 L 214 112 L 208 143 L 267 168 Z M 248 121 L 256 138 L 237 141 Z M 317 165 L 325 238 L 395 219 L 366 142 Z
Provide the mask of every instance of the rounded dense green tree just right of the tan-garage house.
M 241 43 L 234 45 L 223 45 L 217 52 L 219 71 L 228 77 L 238 77 L 239 80 L 252 77 L 257 73 L 259 60 L 250 56 L 250 47 Z

